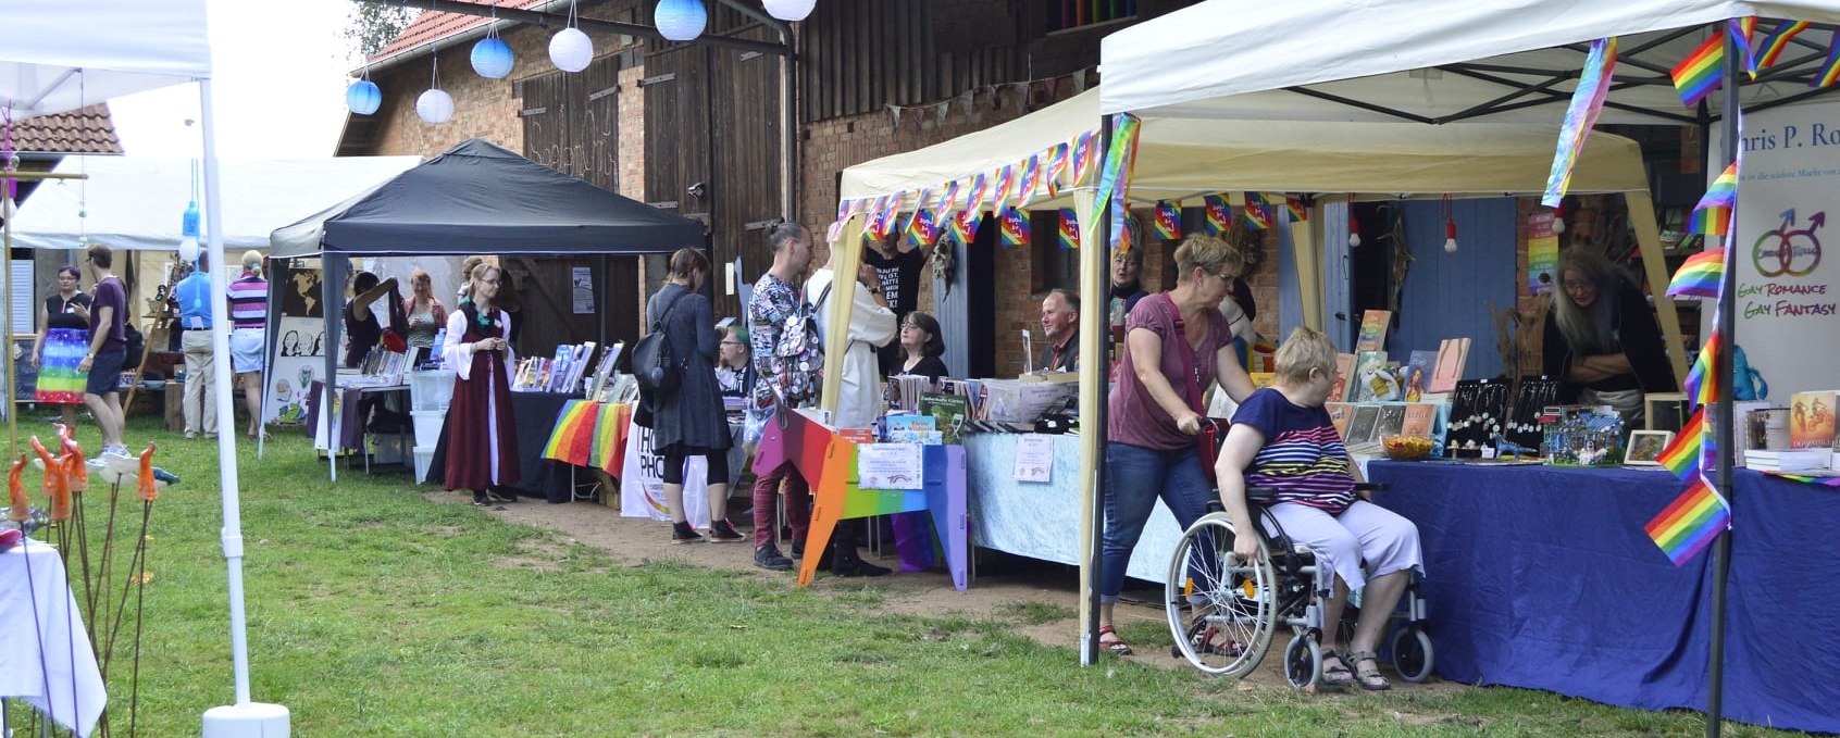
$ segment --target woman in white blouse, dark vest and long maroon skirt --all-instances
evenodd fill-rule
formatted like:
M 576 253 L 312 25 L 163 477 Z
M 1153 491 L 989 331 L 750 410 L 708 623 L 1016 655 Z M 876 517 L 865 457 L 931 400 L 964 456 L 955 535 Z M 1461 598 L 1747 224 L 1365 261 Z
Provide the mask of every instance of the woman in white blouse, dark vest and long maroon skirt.
M 471 300 L 447 317 L 442 353 L 454 368 L 447 410 L 447 490 L 473 490 L 473 504 L 513 502 L 517 421 L 512 418 L 512 372 L 517 361 L 506 340 L 506 313 L 497 307 L 499 267 L 473 269 Z

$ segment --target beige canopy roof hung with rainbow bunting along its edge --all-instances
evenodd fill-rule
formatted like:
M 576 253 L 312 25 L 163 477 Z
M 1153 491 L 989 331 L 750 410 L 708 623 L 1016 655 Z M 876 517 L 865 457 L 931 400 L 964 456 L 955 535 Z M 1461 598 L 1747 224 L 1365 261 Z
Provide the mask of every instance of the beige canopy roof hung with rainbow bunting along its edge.
M 1108 83 L 1110 86 L 1111 83 Z M 1108 86 L 926 149 L 843 171 L 843 199 L 935 191 L 951 180 L 1029 158 L 1098 127 Z M 1303 98 L 1299 98 L 1303 99 Z M 1374 197 L 1538 193 L 1553 164 L 1558 120 L 1546 123 L 1336 123 L 1146 120 L 1130 193 L 1135 201 L 1218 191 L 1327 191 Z M 1592 134 L 1571 191 L 1645 191 L 1641 149 Z M 1040 193 L 1038 202 L 1052 204 Z M 1062 191 L 1062 201 L 1071 197 Z M 911 206 L 913 197 L 903 204 Z

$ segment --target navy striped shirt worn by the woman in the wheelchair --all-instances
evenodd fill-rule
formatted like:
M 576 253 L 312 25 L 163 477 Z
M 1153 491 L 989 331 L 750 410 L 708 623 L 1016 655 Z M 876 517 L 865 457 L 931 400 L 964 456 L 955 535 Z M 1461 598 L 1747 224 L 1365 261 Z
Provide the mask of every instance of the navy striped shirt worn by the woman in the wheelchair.
M 1248 486 L 1277 490 L 1279 502 L 1306 504 L 1330 515 L 1341 515 L 1354 504 L 1349 449 L 1328 421 L 1328 410 L 1295 405 L 1266 386 L 1240 403 L 1233 421 L 1266 436 L 1266 445 L 1246 471 Z

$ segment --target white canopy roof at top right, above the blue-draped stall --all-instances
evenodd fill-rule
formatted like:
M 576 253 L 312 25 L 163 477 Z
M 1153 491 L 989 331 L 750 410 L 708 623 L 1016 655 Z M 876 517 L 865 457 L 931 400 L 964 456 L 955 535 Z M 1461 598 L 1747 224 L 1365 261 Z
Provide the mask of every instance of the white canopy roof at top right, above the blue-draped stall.
M 1102 40 L 1102 109 L 1146 118 L 1557 121 L 1586 44 L 1617 37 L 1616 83 L 1599 121 L 1691 123 L 1696 110 L 1682 105 L 1669 70 L 1706 39 L 1708 24 L 1752 15 L 1840 22 L 1836 0 L 1511 6 L 1297 0 L 1246 13 L 1244 4 L 1209 0 Z M 1759 22 L 1757 35 L 1774 26 Z M 1801 33 L 1763 70 L 1763 85 L 1744 85 L 1744 109 L 1811 94 L 1809 75 L 1831 35 L 1827 28 Z M 1713 112 L 1719 98 L 1708 98 Z

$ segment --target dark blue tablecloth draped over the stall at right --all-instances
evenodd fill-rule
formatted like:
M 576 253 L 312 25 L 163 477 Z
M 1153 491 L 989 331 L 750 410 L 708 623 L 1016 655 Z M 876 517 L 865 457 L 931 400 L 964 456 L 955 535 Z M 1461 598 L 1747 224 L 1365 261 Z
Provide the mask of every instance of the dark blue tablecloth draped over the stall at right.
M 1419 525 L 1444 679 L 1636 709 L 1706 709 L 1711 554 L 1674 567 L 1643 525 L 1663 471 L 1373 462 L 1376 502 Z M 1840 731 L 1840 491 L 1739 469 L 1724 712 Z

